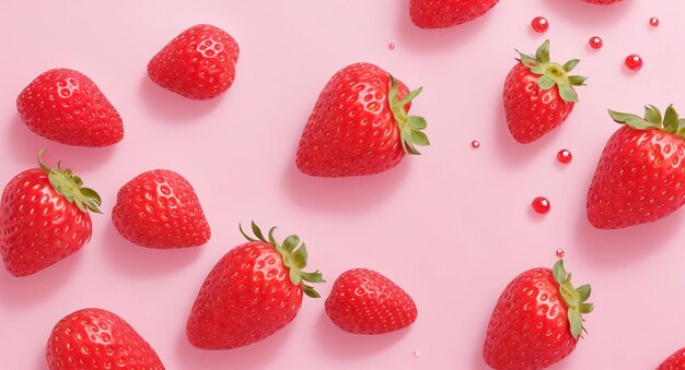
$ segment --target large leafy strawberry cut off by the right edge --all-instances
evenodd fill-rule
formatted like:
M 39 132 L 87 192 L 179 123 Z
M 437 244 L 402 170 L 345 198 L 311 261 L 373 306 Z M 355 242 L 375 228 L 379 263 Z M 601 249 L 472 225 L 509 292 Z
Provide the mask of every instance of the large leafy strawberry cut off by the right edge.
M 609 110 L 617 123 L 588 191 L 588 219 L 602 229 L 657 220 L 685 203 L 685 119 L 670 106 L 645 118 Z

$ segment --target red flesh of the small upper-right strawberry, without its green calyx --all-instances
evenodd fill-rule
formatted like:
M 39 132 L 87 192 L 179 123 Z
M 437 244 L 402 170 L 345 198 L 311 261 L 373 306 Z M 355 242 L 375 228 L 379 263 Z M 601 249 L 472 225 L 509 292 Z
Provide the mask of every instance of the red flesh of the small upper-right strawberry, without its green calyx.
M 504 82 L 504 112 L 512 136 L 522 144 L 531 143 L 561 124 L 573 110 L 556 86 L 542 89 L 539 75 L 519 62 Z

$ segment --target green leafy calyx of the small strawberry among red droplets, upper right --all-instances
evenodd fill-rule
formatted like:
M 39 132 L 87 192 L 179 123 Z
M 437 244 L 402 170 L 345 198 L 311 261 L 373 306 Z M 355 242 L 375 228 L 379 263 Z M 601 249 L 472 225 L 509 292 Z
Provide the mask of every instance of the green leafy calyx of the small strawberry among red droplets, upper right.
M 549 40 L 545 40 L 543 45 L 535 51 L 534 56 L 529 56 L 519 52 L 519 60 L 523 65 L 527 67 L 531 72 L 539 74 L 537 79 L 537 86 L 542 89 L 549 89 L 557 86 L 559 96 L 564 102 L 578 103 L 578 94 L 572 86 L 584 86 L 588 77 L 582 75 L 569 75 L 576 65 L 580 62 L 579 59 L 571 59 L 564 65 L 552 62 L 549 60 Z

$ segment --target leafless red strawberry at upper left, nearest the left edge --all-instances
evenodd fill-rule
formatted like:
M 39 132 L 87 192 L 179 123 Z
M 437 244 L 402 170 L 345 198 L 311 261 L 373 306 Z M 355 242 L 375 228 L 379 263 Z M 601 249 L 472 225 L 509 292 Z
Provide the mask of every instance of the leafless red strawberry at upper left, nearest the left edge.
M 37 76 L 16 98 L 16 109 L 31 131 L 58 143 L 107 146 L 124 138 L 119 112 L 91 79 L 73 70 Z

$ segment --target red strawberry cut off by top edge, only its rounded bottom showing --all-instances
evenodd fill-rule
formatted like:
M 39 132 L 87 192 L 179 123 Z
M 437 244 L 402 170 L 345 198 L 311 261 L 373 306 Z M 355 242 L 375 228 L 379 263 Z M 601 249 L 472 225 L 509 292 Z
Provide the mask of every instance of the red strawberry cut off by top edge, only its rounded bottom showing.
M 420 28 L 445 28 L 473 21 L 499 0 L 410 0 L 411 22 Z

